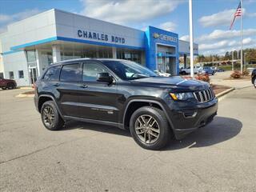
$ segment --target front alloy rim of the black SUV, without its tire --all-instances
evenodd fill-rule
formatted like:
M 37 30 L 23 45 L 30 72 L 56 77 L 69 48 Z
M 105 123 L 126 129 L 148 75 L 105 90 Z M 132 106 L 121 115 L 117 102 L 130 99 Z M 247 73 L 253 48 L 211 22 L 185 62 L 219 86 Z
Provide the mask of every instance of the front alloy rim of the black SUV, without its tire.
M 135 122 L 135 133 L 142 142 L 151 144 L 158 140 L 160 126 L 151 115 L 143 114 Z

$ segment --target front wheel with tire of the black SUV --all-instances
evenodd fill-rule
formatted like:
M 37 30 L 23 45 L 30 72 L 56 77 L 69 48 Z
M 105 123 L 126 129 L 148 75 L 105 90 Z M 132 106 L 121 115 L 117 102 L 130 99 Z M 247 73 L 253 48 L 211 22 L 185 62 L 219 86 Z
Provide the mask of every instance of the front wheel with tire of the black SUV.
M 166 114 L 158 108 L 142 106 L 130 118 L 130 134 L 146 150 L 159 150 L 166 146 L 171 138 L 170 132 Z

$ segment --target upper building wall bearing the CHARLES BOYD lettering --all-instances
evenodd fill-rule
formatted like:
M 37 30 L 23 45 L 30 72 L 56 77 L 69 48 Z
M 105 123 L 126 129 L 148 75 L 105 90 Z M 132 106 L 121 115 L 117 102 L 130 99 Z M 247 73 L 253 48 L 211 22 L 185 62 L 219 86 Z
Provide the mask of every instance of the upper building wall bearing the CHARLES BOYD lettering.
M 127 26 L 120 26 L 110 22 L 103 22 L 94 18 L 87 18 L 78 14 L 70 14 L 62 10 L 55 10 L 58 37 L 74 38 L 91 42 L 105 42 L 121 46 L 144 47 L 144 31 L 135 30 Z M 99 34 L 107 34 L 109 40 L 102 41 L 93 38 L 78 37 L 78 30 L 85 30 Z M 111 42 L 111 36 L 125 38 L 125 43 Z

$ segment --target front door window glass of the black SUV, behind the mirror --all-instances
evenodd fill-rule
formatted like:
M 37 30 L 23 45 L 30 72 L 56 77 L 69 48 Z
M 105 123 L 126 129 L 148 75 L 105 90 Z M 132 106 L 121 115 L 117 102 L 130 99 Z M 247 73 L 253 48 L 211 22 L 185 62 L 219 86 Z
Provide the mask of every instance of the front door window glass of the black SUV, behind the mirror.
M 107 72 L 101 65 L 94 62 L 82 65 L 82 81 L 96 81 L 98 73 Z

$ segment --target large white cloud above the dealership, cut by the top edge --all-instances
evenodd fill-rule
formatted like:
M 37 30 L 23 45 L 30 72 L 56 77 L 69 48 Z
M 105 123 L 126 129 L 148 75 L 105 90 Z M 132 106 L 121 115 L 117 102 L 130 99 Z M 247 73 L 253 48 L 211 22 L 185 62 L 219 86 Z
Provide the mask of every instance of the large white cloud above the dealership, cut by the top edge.
M 142 22 L 169 14 L 183 1 L 170 0 L 80 0 L 82 14 L 119 24 Z

